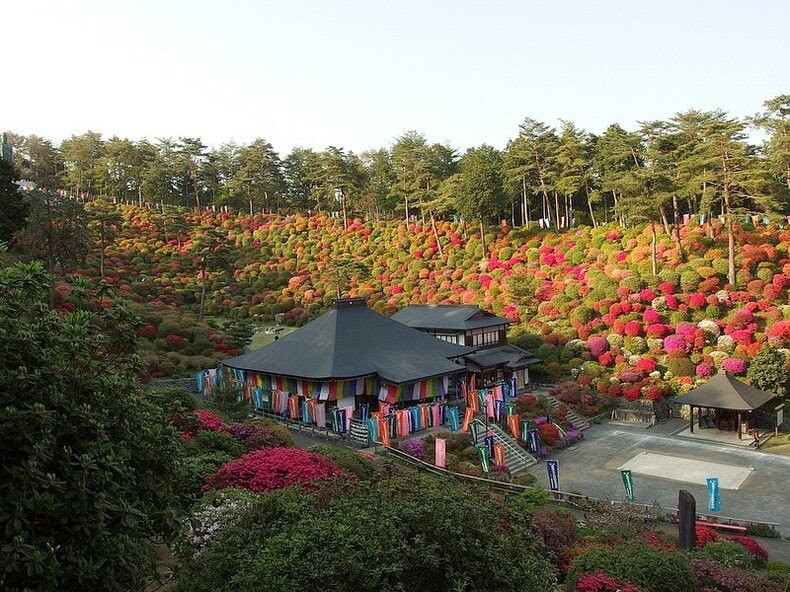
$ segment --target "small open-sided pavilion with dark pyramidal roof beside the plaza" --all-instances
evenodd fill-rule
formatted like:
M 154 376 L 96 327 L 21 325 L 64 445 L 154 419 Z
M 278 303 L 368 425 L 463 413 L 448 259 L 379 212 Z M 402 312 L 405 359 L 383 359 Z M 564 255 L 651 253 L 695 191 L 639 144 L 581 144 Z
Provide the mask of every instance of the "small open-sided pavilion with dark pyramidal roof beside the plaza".
M 694 409 L 700 428 L 735 431 L 738 439 L 748 433 L 752 413 L 767 405 L 776 395 L 756 389 L 721 370 L 719 373 L 682 397 L 677 402 L 688 405 L 689 430 L 694 433 Z M 703 410 L 707 413 L 703 414 Z

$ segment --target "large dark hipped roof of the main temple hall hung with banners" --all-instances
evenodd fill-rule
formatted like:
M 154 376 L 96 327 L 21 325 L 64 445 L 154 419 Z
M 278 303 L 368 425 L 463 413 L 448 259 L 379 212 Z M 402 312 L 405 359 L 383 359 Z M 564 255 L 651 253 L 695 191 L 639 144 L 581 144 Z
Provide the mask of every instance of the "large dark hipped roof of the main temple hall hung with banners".
M 223 364 L 309 380 L 378 374 L 403 384 L 463 371 L 449 358 L 470 351 L 380 315 L 362 298 L 345 298 L 293 333 Z

